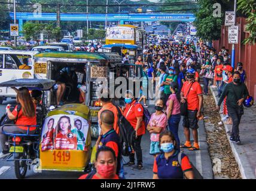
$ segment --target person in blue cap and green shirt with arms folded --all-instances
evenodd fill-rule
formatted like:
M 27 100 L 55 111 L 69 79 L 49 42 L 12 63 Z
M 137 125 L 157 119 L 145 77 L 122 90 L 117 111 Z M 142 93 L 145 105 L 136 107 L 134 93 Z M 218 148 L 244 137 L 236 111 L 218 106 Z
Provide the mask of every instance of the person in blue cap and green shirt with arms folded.
M 172 93 L 170 91 L 170 83 L 176 82 L 177 76 L 175 75 L 175 68 L 169 67 L 169 74 L 166 75 L 163 79 L 163 85 L 164 85 L 164 103 L 168 100 L 170 94 Z

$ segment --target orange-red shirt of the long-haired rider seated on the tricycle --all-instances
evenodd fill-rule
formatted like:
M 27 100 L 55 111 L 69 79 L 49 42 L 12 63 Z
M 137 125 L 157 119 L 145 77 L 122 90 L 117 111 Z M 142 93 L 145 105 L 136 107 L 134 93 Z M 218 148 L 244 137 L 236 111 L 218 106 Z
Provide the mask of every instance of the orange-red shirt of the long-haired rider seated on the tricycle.
M 14 108 L 13 112 L 11 112 L 11 113 L 13 113 L 13 115 L 15 117 L 17 117 L 17 113 L 18 113 L 17 107 L 18 106 L 16 106 Z M 36 106 L 35 106 L 35 110 L 36 110 Z M 23 111 L 22 111 L 22 109 L 20 109 L 15 125 L 36 125 L 36 115 L 32 116 L 32 117 L 27 117 L 27 116 L 23 115 Z M 23 126 L 18 126 L 18 127 L 22 130 L 28 131 L 28 127 L 23 127 Z M 34 131 L 35 129 L 36 129 L 36 127 L 30 127 L 29 131 Z

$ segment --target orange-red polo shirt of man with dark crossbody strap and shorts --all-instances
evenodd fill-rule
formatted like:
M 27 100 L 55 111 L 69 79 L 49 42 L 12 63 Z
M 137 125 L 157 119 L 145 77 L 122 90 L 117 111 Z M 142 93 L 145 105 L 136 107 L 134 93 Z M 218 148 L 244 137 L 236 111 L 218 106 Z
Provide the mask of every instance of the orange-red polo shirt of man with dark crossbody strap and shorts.
M 184 94 L 184 97 L 187 97 L 188 110 L 198 110 L 199 109 L 198 96 L 203 94 L 202 88 L 199 82 L 195 81 L 192 86 L 191 86 L 191 83 L 189 84 L 188 81 L 185 81 L 182 86 L 181 92 Z M 190 87 L 191 87 L 191 90 L 190 90 Z M 189 93 L 188 93 L 188 90 L 190 90 Z

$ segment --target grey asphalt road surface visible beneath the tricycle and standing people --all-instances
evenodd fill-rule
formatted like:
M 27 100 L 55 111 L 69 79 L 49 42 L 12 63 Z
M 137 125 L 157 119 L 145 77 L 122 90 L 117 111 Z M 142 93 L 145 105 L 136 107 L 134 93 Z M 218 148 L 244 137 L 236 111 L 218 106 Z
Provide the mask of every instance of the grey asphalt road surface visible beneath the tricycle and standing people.
M 0 115 L 5 111 L 5 106 L 8 103 L 15 103 L 14 100 L 4 101 L 4 104 L 0 105 Z M 154 112 L 154 107 L 150 106 L 148 110 Z M 212 178 L 212 165 L 208 153 L 208 145 L 206 143 L 205 128 L 203 122 L 200 121 L 199 128 L 199 144 L 201 150 L 196 152 L 184 150 L 188 155 L 191 162 L 197 167 L 197 169 L 203 174 L 204 178 Z M 181 143 L 184 143 L 184 135 L 182 132 L 183 128 L 179 127 L 179 137 L 181 138 Z M 93 144 L 95 141 L 93 141 Z M 150 150 L 150 134 L 144 135 L 142 138 L 142 153 L 143 153 L 143 162 L 144 170 L 133 171 L 130 167 L 124 167 L 126 178 L 152 178 L 153 177 L 153 156 L 149 155 Z M 128 158 L 125 157 L 124 161 L 128 161 Z M 33 170 L 29 170 L 26 178 L 78 178 L 83 173 L 80 172 L 53 172 L 53 171 L 43 171 L 41 173 L 34 173 Z M 0 179 L 2 178 L 16 178 L 14 174 L 14 163 L 0 161 Z

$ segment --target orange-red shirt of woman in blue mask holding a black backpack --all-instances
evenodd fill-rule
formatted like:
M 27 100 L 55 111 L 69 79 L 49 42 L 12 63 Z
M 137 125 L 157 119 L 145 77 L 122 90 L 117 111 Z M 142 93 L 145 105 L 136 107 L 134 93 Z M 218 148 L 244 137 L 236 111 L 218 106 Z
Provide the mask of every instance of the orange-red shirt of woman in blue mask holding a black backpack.
M 136 128 L 137 118 L 144 116 L 142 105 L 140 103 L 135 104 L 135 102 L 136 100 L 134 100 L 130 104 L 126 104 L 126 109 L 124 110 L 124 117 L 130 122 L 130 124 L 134 129 Z M 144 134 L 145 134 L 145 124 L 144 124 L 144 121 L 142 121 L 141 127 L 139 127 L 137 135 L 139 136 Z

